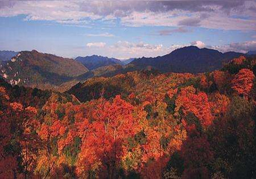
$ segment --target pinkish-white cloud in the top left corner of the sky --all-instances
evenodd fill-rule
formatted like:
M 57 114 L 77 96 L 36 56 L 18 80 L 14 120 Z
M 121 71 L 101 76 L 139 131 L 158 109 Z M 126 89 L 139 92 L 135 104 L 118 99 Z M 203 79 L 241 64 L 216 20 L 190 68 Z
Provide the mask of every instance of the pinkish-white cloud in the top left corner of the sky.
M 100 19 L 101 16 L 80 10 L 80 6 L 72 1 L 22 1 L 15 2 L 12 6 L 1 8 L 0 16 L 27 15 L 25 20 L 49 20 L 59 23 L 81 24 L 91 20 Z

